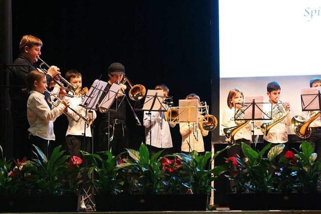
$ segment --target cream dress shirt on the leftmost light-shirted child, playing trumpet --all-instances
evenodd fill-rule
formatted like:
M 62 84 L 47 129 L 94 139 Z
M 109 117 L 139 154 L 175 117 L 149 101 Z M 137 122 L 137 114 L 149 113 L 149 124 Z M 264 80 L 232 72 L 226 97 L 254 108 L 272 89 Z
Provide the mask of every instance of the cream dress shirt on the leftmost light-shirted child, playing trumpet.
M 62 114 L 64 109 L 65 105 L 60 103 L 51 110 L 45 100 L 45 95 L 37 91 L 30 91 L 27 102 L 27 117 L 30 125 L 28 131 L 30 134 L 46 140 L 55 140 L 54 121 Z

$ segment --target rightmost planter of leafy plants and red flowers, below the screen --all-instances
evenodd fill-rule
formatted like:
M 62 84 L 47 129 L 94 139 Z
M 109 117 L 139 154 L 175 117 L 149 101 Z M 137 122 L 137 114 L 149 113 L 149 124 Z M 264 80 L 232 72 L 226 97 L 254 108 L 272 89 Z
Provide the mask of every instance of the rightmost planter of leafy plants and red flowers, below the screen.
M 238 193 L 230 193 L 230 209 L 319 209 L 318 181 L 321 163 L 316 160 L 313 148 L 304 141 L 300 151 L 287 151 L 279 161 L 275 157 L 283 150 L 276 145 L 265 156 L 268 144 L 256 151 L 242 143 L 245 158 L 230 157 L 227 162 L 236 165 L 229 179 L 235 180 Z M 233 167 L 231 167 L 232 169 Z M 251 204 L 249 204 L 249 201 Z

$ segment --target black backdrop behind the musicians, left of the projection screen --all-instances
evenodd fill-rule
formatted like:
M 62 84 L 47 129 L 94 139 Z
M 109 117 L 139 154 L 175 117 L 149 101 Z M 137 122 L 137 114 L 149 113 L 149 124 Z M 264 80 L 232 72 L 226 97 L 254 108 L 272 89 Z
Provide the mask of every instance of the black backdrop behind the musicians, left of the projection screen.
M 43 41 L 41 58 L 47 64 L 58 66 L 63 75 L 69 69 L 79 70 L 83 86 L 89 88 L 99 78 L 107 81 L 108 66 L 120 62 L 133 84 L 142 84 L 146 89 L 166 84 L 174 106 L 179 99 L 196 93 L 210 106 L 210 113 L 219 118 L 217 0 L 14 0 L 10 41 L 13 60 L 19 55 L 21 38 L 29 34 Z M 3 73 L 2 86 L 5 77 Z M 137 149 L 144 142 L 144 127 L 135 125 L 132 112 L 127 110 L 129 144 Z M 136 114 L 142 122 L 142 112 Z M 2 130 L 6 134 L 10 127 L 3 115 Z M 94 146 L 99 122 L 98 117 L 94 122 Z M 54 126 L 56 143 L 64 145 L 66 117 L 59 117 Z M 179 126 L 171 131 L 173 152 L 180 152 Z M 206 150 L 211 150 L 218 132 L 219 128 L 204 138 Z M 219 144 L 215 150 L 223 147 Z M 218 163 L 224 161 L 224 155 Z M 226 191 L 225 186 L 225 181 L 215 185 L 215 203 L 226 203 L 221 193 Z

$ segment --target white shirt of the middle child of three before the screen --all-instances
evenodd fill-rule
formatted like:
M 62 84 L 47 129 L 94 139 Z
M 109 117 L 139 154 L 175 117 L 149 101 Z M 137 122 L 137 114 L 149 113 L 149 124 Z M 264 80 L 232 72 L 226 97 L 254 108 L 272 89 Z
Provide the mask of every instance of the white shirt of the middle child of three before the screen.
M 280 101 L 278 103 L 280 103 Z M 275 105 L 276 104 L 272 104 L 272 111 L 273 111 L 273 108 Z M 268 115 L 268 116 L 263 115 L 264 118 L 270 117 L 271 116 L 271 103 L 265 103 L 263 105 L 263 111 L 266 115 Z M 277 124 L 273 125 L 269 129 L 267 136 L 263 135 L 263 139 L 268 142 L 271 142 L 271 143 L 285 143 L 285 142 L 287 142 L 288 138 L 287 138 L 286 126 L 291 125 L 291 120 L 292 120 L 292 116 L 291 116 L 291 112 L 289 111 L 283 120 L 281 120 Z M 272 121 L 273 120 L 265 120 L 263 122 L 270 123 Z

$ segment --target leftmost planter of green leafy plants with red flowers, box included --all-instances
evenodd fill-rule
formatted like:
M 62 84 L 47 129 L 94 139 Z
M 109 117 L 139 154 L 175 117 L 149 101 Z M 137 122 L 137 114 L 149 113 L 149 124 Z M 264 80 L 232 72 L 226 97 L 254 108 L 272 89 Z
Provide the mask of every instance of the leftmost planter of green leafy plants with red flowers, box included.
M 67 161 L 69 156 L 60 151 L 61 145 L 50 158 L 34 148 L 36 158 L 14 161 L 14 168 L 7 168 L 11 179 L 8 194 L 0 200 L 2 211 L 76 211 L 82 160 L 72 157 Z M 68 176 L 68 183 L 64 183 L 64 176 Z

